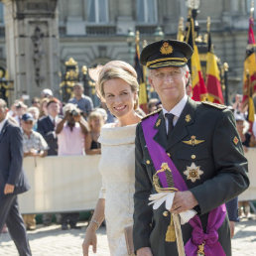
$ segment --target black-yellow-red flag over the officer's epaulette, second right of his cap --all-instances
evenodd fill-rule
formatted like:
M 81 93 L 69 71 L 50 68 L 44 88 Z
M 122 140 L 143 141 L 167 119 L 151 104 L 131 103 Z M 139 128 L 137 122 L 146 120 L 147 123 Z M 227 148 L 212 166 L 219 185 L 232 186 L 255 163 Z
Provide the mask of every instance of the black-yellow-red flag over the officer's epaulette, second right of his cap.
M 210 33 L 208 33 L 208 52 L 206 56 L 206 87 L 208 91 L 208 101 L 224 104 L 219 68 L 217 66 L 217 58 L 213 54 Z

